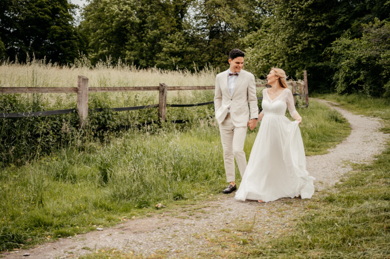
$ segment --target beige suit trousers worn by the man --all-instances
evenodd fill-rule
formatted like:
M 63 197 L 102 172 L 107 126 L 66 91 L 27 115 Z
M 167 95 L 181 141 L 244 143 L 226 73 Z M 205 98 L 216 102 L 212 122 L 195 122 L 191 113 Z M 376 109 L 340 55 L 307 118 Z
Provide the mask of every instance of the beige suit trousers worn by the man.
M 241 177 L 244 175 L 246 169 L 244 142 L 247 128 L 235 127 L 230 114 L 219 124 L 223 147 L 223 161 L 225 163 L 226 180 L 228 182 L 235 181 L 234 158 L 236 158 Z

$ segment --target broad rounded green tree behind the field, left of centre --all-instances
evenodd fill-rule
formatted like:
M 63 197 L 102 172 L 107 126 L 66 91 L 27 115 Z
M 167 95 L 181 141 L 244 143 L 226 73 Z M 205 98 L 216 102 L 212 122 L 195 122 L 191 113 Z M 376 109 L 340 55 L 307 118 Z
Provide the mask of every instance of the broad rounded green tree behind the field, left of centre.
M 88 39 L 93 63 L 112 56 L 141 67 L 154 66 L 163 51 L 162 42 L 183 43 L 180 34 L 188 1 L 93 0 L 83 12 L 82 35 Z M 184 44 L 185 45 L 185 44 Z M 168 68 L 161 62 L 161 68 Z M 165 66 L 165 67 L 164 67 Z

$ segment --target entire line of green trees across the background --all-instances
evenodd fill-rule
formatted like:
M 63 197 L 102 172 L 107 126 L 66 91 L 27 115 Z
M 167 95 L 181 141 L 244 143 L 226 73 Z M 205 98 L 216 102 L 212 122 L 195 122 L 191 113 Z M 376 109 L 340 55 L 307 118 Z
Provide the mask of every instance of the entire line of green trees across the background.
M 308 71 L 311 91 L 390 96 L 388 0 L 67 0 L 0 2 L 0 56 L 92 64 L 111 56 L 141 68 L 228 66 L 233 48 L 245 69 L 271 67 L 289 78 Z

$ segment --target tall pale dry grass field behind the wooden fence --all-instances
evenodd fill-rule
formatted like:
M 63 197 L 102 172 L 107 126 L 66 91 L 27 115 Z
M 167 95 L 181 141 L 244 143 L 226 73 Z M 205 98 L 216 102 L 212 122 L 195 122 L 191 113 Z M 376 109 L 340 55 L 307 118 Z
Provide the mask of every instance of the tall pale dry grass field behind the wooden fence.
M 206 67 L 191 73 L 188 70 L 163 70 L 156 67 L 140 69 L 134 65 L 113 64 L 110 59 L 100 61 L 91 66 L 85 56 L 76 59 L 74 64 L 59 66 L 47 63 L 46 60 L 31 59 L 26 62 L 0 62 L 0 87 L 77 87 L 77 76 L 86 76 L 89 87 L 138 87 L 158 86 L 165 83 L 168 86 L 207 86 L 215 84 L 215 76 L 219 69 Z M 115 105 L 132 105 L 135 98 L 143 97 L 147 101 L 157 101 L 157 92 L 116 92 L 94 93 L 94 96 L 104 96 Z M 185 93 L 193 96 L 193 91 Z M 24 98 L 26 95 L 21 96 Z M 137 96 L 137 97 L 135 97 Z M 169 92 L 168 100 L 175 98 L 177 92 Z M 76 102 L 76 94 L 44 94 L 41 99 L 50 106 L 65 107 Z M 145 103 L 151 104 L 151 103 Z

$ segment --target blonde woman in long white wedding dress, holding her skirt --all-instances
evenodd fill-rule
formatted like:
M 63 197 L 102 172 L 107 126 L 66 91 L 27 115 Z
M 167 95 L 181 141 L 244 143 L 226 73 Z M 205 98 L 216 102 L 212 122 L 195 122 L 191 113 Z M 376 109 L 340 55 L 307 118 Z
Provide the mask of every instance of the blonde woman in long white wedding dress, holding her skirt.
M 302 117 L 295 109 L 284 70 L 272 68 L 267 83 L 272 88 L 263 90 L 263 110 L 258 115 L 262 124 L 235 198 L 258 202 L 299 196 L 310 199 L 315 178 L 306 171 L 305 150 L 298 126 Z M 296 121 L 287 119 L 286 108 Z M 254 128 L 250 122 L 248 126 L 251 130 Z

